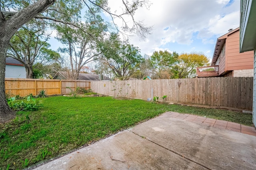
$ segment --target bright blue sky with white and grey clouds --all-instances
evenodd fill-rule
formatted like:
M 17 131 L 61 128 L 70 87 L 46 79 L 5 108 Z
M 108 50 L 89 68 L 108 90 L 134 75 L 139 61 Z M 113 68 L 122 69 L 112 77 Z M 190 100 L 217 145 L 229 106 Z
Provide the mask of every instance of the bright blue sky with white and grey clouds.
M 216 40 L 238 28 L 240 0 L 150 0 L 149 8 L 138 8 L 135 20 L 152 26 L 152 34 L 140 40 L 130 38 L 130 43 L 141 50 L 141 55 L 168 50 L 177 53 L 202 52 L 212 58 Z M 122 10 L 122 0 L 108 0 L 113 12 Z M 105 20 L 110 19 L 106 14 Z M 114 20 L 121 26 L 119 20 Z M 52 49 L 61 44 L 51 38 Z

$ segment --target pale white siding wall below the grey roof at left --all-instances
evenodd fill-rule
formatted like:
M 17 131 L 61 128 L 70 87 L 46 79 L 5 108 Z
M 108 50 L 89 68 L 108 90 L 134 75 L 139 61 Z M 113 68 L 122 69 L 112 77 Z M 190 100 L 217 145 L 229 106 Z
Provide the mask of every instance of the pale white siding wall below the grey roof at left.
M 20 65 L 6 65 L 5 78 L 26 78 L 26 69 Z

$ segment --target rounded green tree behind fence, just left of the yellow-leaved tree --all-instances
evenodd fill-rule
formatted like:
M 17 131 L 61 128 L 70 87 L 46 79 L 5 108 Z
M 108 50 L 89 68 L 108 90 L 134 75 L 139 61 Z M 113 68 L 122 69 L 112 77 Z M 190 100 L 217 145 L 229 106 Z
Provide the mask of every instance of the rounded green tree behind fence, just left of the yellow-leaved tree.
M 176 64 L 178 59 L 178 53 L 175 51 L 170 53 L 169 51 L 154 51 L 150 57 L 154 78 L 156 79 L 170 79 L 172 67 Z

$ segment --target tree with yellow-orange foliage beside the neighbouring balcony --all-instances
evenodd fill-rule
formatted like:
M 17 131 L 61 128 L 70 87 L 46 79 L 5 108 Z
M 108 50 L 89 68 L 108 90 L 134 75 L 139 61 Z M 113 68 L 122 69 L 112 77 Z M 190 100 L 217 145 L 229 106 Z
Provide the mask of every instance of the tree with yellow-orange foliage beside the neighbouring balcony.
M 192 78 L 196 76 L 196 67 L 209 65 L 209 59 L 203 53 L 183 53 L 172 68 L 172 78 Z

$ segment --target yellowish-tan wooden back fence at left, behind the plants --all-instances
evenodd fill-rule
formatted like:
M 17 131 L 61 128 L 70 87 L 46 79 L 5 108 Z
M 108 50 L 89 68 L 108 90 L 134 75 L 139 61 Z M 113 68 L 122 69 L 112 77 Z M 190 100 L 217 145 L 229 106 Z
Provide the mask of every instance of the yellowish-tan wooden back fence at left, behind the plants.
M 5 79 L 5 92 L 10 95 L 26 96 L 30 93 L 38 95 L 44 89 L 47 95 L 63 95 L 70 93 L 70 87 L 90 89 L 90 81 L 84 80 L 55 80 L 55 79 Z

